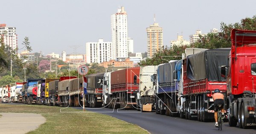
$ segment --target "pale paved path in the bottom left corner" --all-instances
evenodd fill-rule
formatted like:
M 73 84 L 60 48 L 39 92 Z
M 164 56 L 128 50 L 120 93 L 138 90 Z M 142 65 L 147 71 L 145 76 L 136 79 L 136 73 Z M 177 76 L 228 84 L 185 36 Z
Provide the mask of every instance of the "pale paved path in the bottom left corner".
M 0 134 L 25 134 L 46 122 L 40 114 L 0 113 Z M 26 121 L 29 120 L 29 121 Z

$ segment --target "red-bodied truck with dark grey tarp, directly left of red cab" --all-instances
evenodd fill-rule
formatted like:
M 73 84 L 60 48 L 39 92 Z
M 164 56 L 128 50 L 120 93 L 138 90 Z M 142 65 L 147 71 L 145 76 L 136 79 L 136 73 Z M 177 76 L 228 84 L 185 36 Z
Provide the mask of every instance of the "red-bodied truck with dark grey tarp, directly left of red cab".
M 221 77 L 221 66 L 228 64 L 229 51 L 230 48 L 209 49 L 184 57 L 183 84 L 180 84 L 178 99 L 182 106 L 180 117 L 203 122 L 214 119 L 212 94 L 219 89 L 226 96 L 226 79 Z

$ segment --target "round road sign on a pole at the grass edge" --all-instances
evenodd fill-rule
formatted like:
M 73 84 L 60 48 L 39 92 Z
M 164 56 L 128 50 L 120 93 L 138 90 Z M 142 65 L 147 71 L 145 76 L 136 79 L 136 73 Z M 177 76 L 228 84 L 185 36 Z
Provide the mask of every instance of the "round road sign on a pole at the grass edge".
M 84 75 L 86 75 L 89 71 L 89 68 L 86 66 L 86 65 L 81 65 L 78 67 L 78 72 L 80 75 L 83 76 L 83 111 L 85 111 L 85 108 L 84 108 L 84 103 L 85 103 L 85 94 L 84 94 L 84 90 L 86 90 L 87 88 L 87 79 L 84 77 Z

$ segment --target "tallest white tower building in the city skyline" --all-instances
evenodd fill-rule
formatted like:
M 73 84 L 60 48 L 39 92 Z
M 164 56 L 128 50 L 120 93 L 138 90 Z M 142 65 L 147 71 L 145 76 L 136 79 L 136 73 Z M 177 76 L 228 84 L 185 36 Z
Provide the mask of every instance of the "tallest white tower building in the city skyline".
M 119 60 L 128 57 L 127 14 L 122 6 L 116 14 L 111 15 L 112 59 Z

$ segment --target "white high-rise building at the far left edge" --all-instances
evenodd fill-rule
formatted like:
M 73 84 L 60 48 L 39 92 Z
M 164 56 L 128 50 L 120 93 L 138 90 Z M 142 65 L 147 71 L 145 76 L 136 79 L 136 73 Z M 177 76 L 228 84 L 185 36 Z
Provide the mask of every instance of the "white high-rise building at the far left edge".
M 7 27 L 6 24 L 0 24 L 0 35 L 4 38 L 4 43 L 6 46 L 9 46 L 12 49 L 18 47 L 15 27 Z

